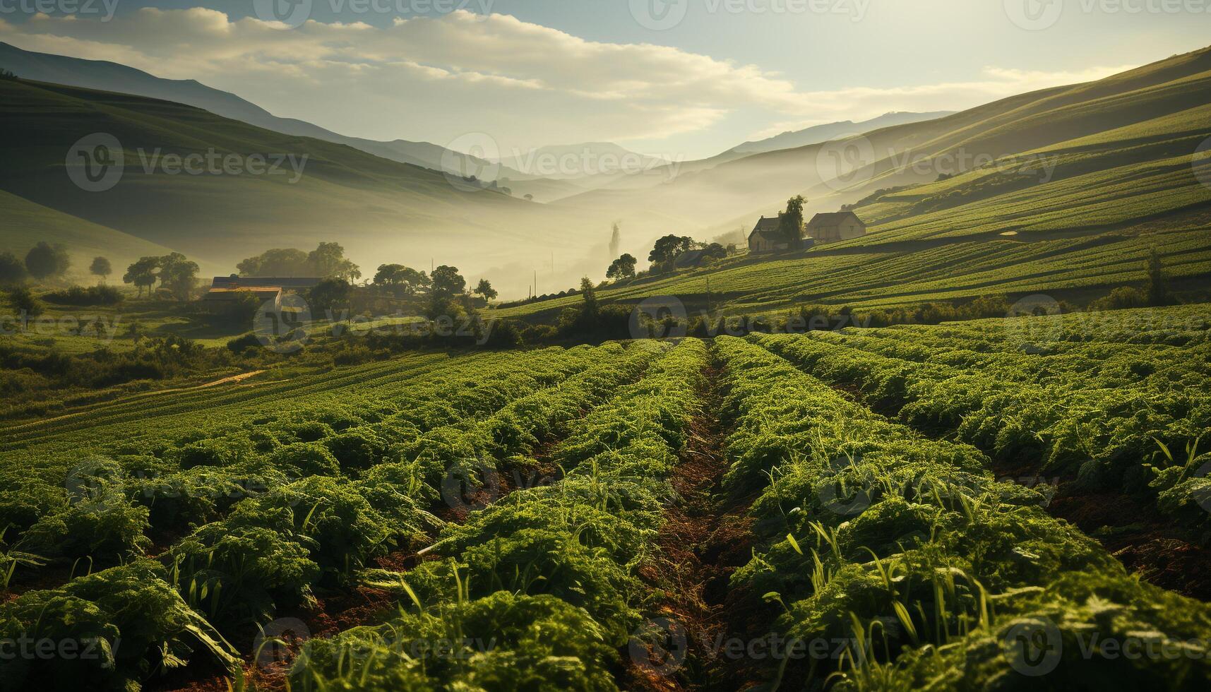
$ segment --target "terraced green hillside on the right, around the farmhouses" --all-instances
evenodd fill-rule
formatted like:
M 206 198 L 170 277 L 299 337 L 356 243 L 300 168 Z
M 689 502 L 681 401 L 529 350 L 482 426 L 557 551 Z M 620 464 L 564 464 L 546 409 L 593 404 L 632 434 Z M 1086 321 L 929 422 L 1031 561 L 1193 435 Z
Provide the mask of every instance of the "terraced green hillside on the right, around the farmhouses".
M 814 160 L 821 147 L 757 154 L 679 178 L 659 188 L 665 218 L 727 215 L 736 200 L 771 190 L 767 207 L 691 231 L 698 238 L 737 223 L 751 227 L 758 213 L 769 216 L 797 193 L 809 196 L 809 215 L 855 205 L 869 233 L 794 256 L 737 258 L 639 280 L 607 288 L 601 297 L 637 302 L 675 294 L 691 308 L 705 308 L 710 280 L 712 307 L 729 313 L 1035 292 L 1081 301 L 1142 281 L 1150 247 L 1160 251 L 1181 286 L 1206 288 L 1211 155 L 1196 151 L 1211 138 L 1209 90 L 1211 50 L 1204 50 L 1092 84 L 872 132 L 863 148 L 894 155 L 855 171 L 848 187 L 819 179 Z M 960 153 L 988 162 L 941 176 L 949 173 L 943 162 Z M 591 208 L 601 196 L 559 204 L 575 200 Z M 701 211 L 687 211 L 690 200 Z M 619 213 L 627 201 L 618 194 L 609 204 Z M 501 314 L 549 319 L 575 301 L 545 301 Z

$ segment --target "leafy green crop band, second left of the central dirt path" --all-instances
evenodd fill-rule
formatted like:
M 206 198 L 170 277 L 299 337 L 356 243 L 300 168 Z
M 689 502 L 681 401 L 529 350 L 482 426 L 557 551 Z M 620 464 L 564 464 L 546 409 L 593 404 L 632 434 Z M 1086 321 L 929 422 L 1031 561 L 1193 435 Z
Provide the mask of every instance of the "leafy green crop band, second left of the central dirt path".
M 125 453 L 76 469 L 65 488 L 51 488 L 57 494 L 44 492 L 53 502 L 40 516 L 42 508 L 13 505 L 38 497 L 25 491 L 41 481 L 23 491 L 12 475 L 5 507 L 33 517 L 17 532 L 13 559 L 91 560 L 113 551 L 132 561 L 17 597 L 0 608 L 0 634 L 79 639 L 84 622 L 93 627 L 85 634 L 101 633 L 105 646 L 128 645 L 125 658 L 76 659 L 82 665 L 18 657 L 0 663 L 0 675 L 25 684 L 79 681 L 108 664 L 109 679 L 138 680 L 183 663 L 189 648 L 234 665 L 235 652 L 211 623 L 233 633 L 264 622 L 281 607 L 309 602 L 314 588 L 342 588 L 373 557 L 441 525 L 427 509 L 440 494 L 442 469 L 434 464 L 446 461 L 434 451 L 443 440 L 474 440 L 477 461 L 526 453 L 586 402 L 637 377 L 659 350 L 545 349 L 528 354 L 524 368 L 507 360 L 492 370 L 466 362 L 412 382 L 394 398 L 345 407 L 303 404 L 289 416 L 256 416 L 171 441 L 136 440 Z M 147 560 L 139 556 L 149 528 L 184 528 L 186 536 Z M 92 595 L 75 595 L 81 584 L 94 584 Z M 143 619 L 126 617 L 126 599 L 149 595 L 156 596 Z

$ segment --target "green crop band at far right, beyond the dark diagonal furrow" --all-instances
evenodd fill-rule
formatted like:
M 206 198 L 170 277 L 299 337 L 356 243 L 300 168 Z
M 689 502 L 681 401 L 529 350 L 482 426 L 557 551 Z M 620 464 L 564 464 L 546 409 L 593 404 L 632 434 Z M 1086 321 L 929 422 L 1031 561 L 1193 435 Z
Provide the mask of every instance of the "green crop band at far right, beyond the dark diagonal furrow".
M 1199 440 L 1211 429 L 1211 361 L 1203 345 L 1141 347 L 1148 351 L 1096 364 L 1096 351 L 1114 347 L 1045 358 L 954 349 L 916 361 L 872 353 L 896 353 L 895 342 L 851 334 L 756 341 L 827 382 L 860 383 L 869 401 L 918 429 L 1035 459 L 1038 471 L 1078 476 L 1085 487 L 1158 497 L 1163 510 L 1207 527 L 1201 505 L 1211 485 L 1200 469 L 1211 456 Z

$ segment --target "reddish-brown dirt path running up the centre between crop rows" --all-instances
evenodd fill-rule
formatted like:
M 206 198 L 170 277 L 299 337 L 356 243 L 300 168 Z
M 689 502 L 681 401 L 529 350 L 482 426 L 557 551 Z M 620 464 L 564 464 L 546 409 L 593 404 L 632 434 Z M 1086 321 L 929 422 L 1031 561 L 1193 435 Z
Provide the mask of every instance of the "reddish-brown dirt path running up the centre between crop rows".
M 624 688 L 649 691 L 740 690 L 746 671 L 736 662 L 723 660 L 721 644 L 740 636 L 746 616 L 729 579 L 752 556 L 752 531 L 747 501 L 723 492 L 728 470 L 724 454 L 727 430 L 718 418 L 722 407 L 721 365 L 707 364 L 707 387 L 701 393 L 702 412 L 690 423 L 690 436 L 673 471 L 679 502 L 665 510 L 656 544 L 656 562 L 641 572 L 653 589 L 664 594 L 656 625 L 670 634 L 664 647 L 684 660 L 650 652 L 636 663 L 627 660 Z M 642 660 L 647 656 L 648 660 Z

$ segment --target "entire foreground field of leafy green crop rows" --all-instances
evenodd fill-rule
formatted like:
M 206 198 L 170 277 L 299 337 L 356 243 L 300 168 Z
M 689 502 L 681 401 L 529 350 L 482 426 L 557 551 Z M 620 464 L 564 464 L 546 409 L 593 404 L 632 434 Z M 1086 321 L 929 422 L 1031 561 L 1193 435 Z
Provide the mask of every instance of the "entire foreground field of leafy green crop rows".
M 1209 334 L 1186 305 L 411 355 L 10 427 L 0 641 L 91 656 L 0 677 L 1205 688 Z

